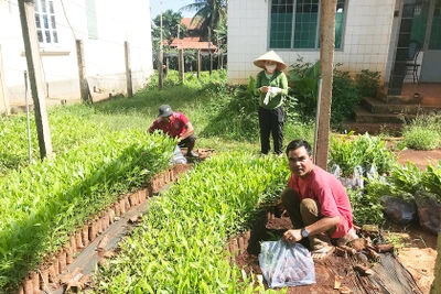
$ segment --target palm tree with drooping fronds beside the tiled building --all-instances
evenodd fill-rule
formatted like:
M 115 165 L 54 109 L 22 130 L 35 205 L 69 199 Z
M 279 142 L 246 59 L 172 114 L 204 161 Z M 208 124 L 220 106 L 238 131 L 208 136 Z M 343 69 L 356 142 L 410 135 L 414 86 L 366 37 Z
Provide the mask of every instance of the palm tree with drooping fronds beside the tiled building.
M 227 15 L 226 0 L 194 0 L 180 11 L 196 11 L 191 24 L 200 26 L 202 41 L 208 41 L 211 33 L 225 22 Z

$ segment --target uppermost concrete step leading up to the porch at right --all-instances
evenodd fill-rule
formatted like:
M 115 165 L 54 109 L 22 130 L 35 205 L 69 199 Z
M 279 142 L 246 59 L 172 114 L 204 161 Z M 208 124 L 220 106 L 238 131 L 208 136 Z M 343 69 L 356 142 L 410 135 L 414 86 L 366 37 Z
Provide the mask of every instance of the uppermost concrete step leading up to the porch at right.
M 387 104 L 372 97 L 364 97 L 361 105 L 373 113 L 405 113 L 416 115 L 418 112 L 441 111 L 439 106 L 427 106 L 417 104 Z

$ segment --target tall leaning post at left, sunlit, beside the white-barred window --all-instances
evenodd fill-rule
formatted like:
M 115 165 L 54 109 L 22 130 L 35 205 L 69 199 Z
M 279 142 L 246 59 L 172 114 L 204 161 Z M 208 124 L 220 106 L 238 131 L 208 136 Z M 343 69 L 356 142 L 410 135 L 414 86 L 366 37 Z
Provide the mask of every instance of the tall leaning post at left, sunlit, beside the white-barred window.
M 39 139 L 40 156 L 52 157 L 51 130 L 49 127 L 46 101 L 44 95 L 43 76 L 41 73 L 39 40 L 36 37 L 34 2 L 19 0 L 20 22 L 26 56 L 29 80 L 31 84 L 36 134 Z

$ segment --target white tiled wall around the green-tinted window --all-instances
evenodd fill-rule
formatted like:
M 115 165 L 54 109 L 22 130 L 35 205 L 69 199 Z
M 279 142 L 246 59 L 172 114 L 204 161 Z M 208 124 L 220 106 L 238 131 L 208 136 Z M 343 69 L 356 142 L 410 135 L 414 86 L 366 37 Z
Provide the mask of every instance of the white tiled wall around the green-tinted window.
M 386 73 L 396 0 L 347 0 L 343 48 L 335 51 L 334 62 L 342 70 L 362 69 Z M 228 1 L 228 81 L 248 83 L 259 68 L 252 62 L 269 51 L 269 8 L 271 1 Z M 320 51 L 275 50 L 290 66 L 303 57 L 314 63 Z

